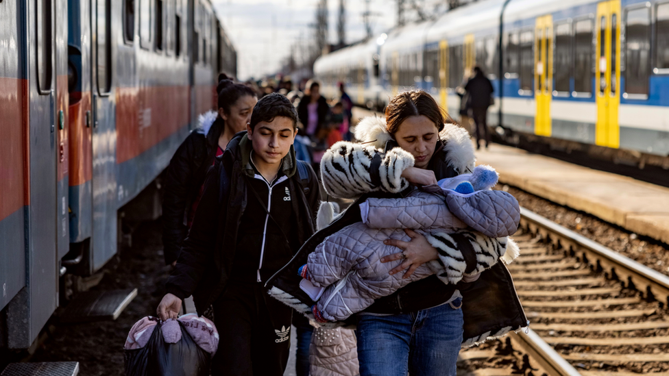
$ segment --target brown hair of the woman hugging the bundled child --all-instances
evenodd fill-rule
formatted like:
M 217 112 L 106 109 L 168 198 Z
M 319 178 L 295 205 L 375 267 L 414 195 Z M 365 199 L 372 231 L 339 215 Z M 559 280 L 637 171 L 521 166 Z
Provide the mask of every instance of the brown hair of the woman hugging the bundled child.
M 406 91 L 391 99 L 386 107 L 386 129 L 395 134 L 400 125 L 411 116 L 426 116 L 441 131 L 443 123 L 455 121 L 442 110 L 437 101 L 423 90 Z

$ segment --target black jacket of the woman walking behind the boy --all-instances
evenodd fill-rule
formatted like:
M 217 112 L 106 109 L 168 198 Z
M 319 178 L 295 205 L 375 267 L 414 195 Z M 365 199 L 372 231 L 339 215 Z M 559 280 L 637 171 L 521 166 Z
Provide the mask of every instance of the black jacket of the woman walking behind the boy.
M 179 257 L 181 245 L 188 235 L 186 216 L 214 162 L 223 126 L 223 120 L 215 113 L 203 115 L 199 127 L 186 137 L 169 162 L 162 201 L 165 265 Z

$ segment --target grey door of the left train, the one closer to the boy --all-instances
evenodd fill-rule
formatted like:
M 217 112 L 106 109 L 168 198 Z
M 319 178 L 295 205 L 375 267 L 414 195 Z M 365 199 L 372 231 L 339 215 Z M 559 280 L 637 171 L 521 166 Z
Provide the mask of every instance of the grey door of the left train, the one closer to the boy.
M 112 101 L 111 0 L 90 0 L 93 109 L 93 260 L 101 268 L 117 248 L 117 202 L 125 195 L 116 180 L 116 113 Z M 144 116 L 147 116 L 144 114 Z M 150 114 L 149 114 L 150 116 Z M 150 121 L 150 120 L 149 120 Z

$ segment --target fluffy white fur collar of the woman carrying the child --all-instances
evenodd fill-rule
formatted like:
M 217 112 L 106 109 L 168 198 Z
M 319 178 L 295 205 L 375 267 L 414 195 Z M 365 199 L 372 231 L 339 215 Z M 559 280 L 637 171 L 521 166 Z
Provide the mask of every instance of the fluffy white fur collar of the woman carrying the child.
M 385 118 L 368 116 L 356 125 L 355 137 L 363 144 L 370 144 L 376 149 L 384 149 L 386 142 L 393 137 L 386 130 Z M 445 141 L 443 150 L 446 151 L 446 163 L 453 166 L 459 173 L 474 169 L 476 157 L 470 134 L 457 124 L 444 124 L 439 132 L 439 138 Z

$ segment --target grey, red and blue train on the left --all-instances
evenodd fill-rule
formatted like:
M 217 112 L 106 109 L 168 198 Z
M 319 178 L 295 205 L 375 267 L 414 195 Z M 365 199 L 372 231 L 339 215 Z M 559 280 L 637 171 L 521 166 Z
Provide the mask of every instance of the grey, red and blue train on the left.
M 0 19 L 0 349 L 12 351 L 64 303 L 65 277 L 117 254 L 121 209 L 216 108 L 236 51 L 209 0 L 4 0 Z

